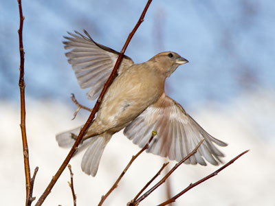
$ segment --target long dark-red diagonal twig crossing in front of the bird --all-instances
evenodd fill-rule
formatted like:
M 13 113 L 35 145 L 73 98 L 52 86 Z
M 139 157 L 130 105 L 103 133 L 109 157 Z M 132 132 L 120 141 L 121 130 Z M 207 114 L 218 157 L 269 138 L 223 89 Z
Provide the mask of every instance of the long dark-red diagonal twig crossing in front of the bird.
M 135 34 L 137 28 L 144 21 L 144 16 L 146 14 L 146 11 L 148 10 L 148 7 L 149 7 L 151 1 L 152 0 L 148 0 L 147 4 L 146 4 L 146 6 L 145 6 L 145 8 L 144 8 L 144 10 L 142 12 L 142 15 L 140 16 L 139 21 L 137 21 L 137 24 L 135 25 L 133 31 L 129 34 L 129 36 L 128 36 L 127 40 L 126 40 L 126 43 L 122 47 L 122 50 L 120 51 L 120 55 L 118 56 L 118 59 L 115 62 L 115 66 L 113 67 L 113 71 L 111 72 L 111 75 L 109 76 L 107 82 L 104 84 L 102 92 L 100 93 L 100 96 L 99 96 L 99 98 L 96 101 L 96 104 L 94 106 L 94 109 L 91 112 L 91 114 L 89 115 L 89 118 L 87 119 L 87 122 L 85 123 L 85 125 L 83 126 L 83 128 L 80 130 L 80 133 L 79 133 L 78 137 L 76 138 L 76 141 L 74 142 L 74 145 L 72 146 L 72 149 L 69 151 L 69 154 L 67 155 L 67 157 L 63 161 L 61 167 L 58 169 L 58 171 L 56 172 L 56 174 L 52 177 L 52 180 L 50 181 L 49 185 L 47 186 L 47 188 L 45 189 L 45 191 L 43 192 L 43 194 L 39 198 L 39 201 L 37 201 L 36 206 L 41 206 L 42 203 L 45 201 L 45 198 L 47 198 L 47 196 L 50 194 L 50 192 L 52 190 L 52 187 L 54 187 L 56 181 L 61 176 L 62 172 L 65 170 L 65 168 L 66 168 L 67 164 L 69 163 L 70 159 L 72 159 L 72 157 L 74 155 L 74 152 L 76 152 L 76 149 L 78 148 L 78 144 L 80 144 L 80 142 L 83 139 L 83 136 L 84 136 L 87 128 L 89 128 L 91 122 L 93 121 L 94 116 L 96 115 L 96 111 L 98 111 L 98 108 L 100 106 L 100 102 L 102 102 L 102 98 L 104 96 L 104 93 L 106 93 L 109 85 L 113 81 L 113 78 L 115 76 L 116 71 L 118 70 L 118 67 L 120 66 L 120 62 L 122 61 L 122 58 L 124 56 L 124 52 L 125 52 L 126 48 L 128 47 L 131 39 L 133 38 L 133 35 Z

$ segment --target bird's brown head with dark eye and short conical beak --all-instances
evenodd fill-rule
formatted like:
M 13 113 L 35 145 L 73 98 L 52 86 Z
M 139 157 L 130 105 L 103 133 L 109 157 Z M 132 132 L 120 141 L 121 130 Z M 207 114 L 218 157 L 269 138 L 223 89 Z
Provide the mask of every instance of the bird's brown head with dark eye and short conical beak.
M 188 63 L 188 60 L 179 56 L 179 54 L 175 52 L 159 53 L 149 61 L 154 62 L 155 68 L 166 77 L 170 76 L 179 65 Z

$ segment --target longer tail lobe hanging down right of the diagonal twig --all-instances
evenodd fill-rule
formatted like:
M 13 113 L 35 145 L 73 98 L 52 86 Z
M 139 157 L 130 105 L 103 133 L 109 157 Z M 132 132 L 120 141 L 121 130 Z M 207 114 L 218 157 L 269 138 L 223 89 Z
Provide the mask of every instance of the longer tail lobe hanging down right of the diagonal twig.
M 111 135 L 108 133 L 103 133 L 98 137 L 91 137 L 89 148 L 86 150 L 81 162 L 83 172 L 96 176 L 102 153 L 110 139 Z

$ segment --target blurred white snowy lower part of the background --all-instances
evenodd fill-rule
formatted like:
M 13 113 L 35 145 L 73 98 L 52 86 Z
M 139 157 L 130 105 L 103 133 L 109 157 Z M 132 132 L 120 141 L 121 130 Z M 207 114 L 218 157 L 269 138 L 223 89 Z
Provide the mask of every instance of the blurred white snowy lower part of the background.
M 226 105 L 209 102 L 198 108 L 192 117 L 208 133 L 227 142 L 225 162 L 244 150 L 246 155 L 217 176 L 181 196 L 175 205 L 274 205 L 275 203 L 275 141 L 274 91 L 256 91 L 244 94 Z M 39 198 L 69 150 L 58 148 L 55 134 L 85 122 L 84 115 L 71 121 L 74 111 L 59 102 L 26 102 L 27 135 L 31 171 L 39 166 L 34 186 L 34 196 Z M 19 104 L 0 103 L 0 183 L 2 205 L 25 204 L 25 177 L 19 127 Z M 208 109 L 206 109 L 208 108 Z M 109 190 L 115 179 L 140 149 L 123 137 L 115 135 L 102 156 L 95 178 L 80 169 L 83 153 L 70 162 L 74 172 L 74 189 L 77 205 L 97 205 L 100 197 Z M 132 165 L 118 188 L 109 196 L 105 205 L 126 205 L 147 183 L 162 163 L 161 157 L 143 153 Z M 168 165 L 171 167 L 175 161 Z M 171 176 L 172 194 L 177 194 L 190 183 L 217 170 L 208 165 L 181 165 Z M 69 170 L 58 180 L 45 205 L 73 205 L 69 189 Z M 140 205 L 157 205 L 166 200 L 165 187 L 160 187 Z

